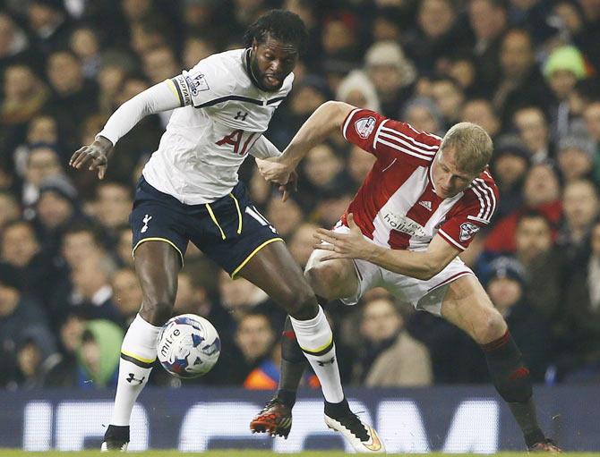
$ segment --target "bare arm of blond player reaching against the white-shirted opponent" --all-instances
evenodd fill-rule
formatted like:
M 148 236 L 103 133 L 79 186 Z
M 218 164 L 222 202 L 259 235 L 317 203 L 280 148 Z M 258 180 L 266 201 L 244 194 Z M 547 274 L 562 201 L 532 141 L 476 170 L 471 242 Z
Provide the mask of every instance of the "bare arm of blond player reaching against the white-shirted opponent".
M 326 140 L 333 131 L 339 130 L 342 123 L 356 106 L 329 101 L 319 106 L 297 131 L 280 157 L 257 161 L 262 176 L 270 182 L 286 184 L 296 165 L 314 146 Z

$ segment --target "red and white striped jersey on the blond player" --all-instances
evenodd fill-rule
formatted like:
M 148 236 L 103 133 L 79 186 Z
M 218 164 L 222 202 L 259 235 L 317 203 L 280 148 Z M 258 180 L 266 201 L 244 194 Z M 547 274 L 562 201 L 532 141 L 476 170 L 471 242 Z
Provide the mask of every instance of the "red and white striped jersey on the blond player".
M 355 109 L 342 124 L 351 143 L 377 160 L 342 216 L 352 213 L 365 236 L 394 250 L 424 250 L 440 234 L 458 250 L 490 223 L 498 189 L 484 170 L 458 195 L 441 199 L 433 191 L 433 157 L 441 138 L 407 123 Z

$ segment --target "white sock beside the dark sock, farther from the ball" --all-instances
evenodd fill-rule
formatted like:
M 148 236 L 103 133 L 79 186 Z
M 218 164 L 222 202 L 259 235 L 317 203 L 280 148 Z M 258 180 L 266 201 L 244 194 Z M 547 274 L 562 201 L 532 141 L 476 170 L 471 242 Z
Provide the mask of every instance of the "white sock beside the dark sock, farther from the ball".
M 319 314 L 312 319 L 297 320 L 290 317 L 290 320 L 296 340 L 319 378 L 325 400 L 330 403 L 341 402 L 344 400 L 344 390 L 339 379 L 336 347 L 323 309 L 319 307 Z

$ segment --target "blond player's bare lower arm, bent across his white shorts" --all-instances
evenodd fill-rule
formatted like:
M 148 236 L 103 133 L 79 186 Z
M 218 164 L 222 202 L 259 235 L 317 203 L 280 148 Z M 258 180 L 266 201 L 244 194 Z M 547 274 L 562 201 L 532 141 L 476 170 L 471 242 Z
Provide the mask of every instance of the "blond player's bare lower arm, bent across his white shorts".
M 330 251 L 323 260 L 362 258 L 394 273 L 428 280 L 440 273 L 459 255 L 459 250 L 440 235 L 433 237 L 427 250 L 392 250 L 366 241 L 351 214 L 347 216 L 347 224 L 349 233 L 335 233 L 321 228 L 314 234 L 314 238 L 318 240 L 313 246 L 314 249 Z

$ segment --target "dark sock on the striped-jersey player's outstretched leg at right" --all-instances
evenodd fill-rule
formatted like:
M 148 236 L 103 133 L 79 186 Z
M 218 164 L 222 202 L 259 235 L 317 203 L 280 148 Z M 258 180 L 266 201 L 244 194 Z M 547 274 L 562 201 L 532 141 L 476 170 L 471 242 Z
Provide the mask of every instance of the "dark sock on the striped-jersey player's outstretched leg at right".
M 536 407 L 531 400 L 533 389 L 529 370 L 510 332 L 501 338 L 482 345 L 485 360 L 490 369 L 493 385 L 501 397 L 509 403 L 510 411 L 519 423 L 527 446 L 544 440 L 544 433 L 537 424 Z

